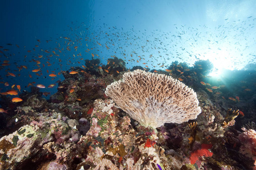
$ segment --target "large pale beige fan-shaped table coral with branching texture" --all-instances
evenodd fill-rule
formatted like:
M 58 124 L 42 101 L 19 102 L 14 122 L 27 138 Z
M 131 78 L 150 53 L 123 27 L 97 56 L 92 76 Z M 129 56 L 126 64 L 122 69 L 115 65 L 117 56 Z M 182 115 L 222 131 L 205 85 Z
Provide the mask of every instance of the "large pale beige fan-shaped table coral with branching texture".
M 106 95 L 141 125 L 158 128 L 182 123 L 201 113 L 196 93 L 179 80 L 142 70 L 125 73 L 106 87 Z

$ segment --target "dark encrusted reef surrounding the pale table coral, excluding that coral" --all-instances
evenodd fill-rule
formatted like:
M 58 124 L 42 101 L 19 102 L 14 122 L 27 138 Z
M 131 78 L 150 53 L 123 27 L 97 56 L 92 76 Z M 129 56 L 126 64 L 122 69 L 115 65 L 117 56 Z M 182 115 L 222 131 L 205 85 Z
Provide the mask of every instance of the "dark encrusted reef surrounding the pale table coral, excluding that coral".
M 192 67 L 176 61 L 166 70 L 151 70 L 193 88 L 202 111 L 196 120 L 165 124 L 157 133 L 105 95 L 109 84 L 131 71 L 117 57 L 106 65 L 86 59 L 85 66 L 64 71 L 65 79 L 49 100 L 34 86 L 20 94 L 18 103 L 1 93 L 0 104 L 8 113 L 0 113 L 0 167 L 253 169 L 255 70 L 226 71 L 220 79 L 208 76 L 211 70 L 209 61 Z

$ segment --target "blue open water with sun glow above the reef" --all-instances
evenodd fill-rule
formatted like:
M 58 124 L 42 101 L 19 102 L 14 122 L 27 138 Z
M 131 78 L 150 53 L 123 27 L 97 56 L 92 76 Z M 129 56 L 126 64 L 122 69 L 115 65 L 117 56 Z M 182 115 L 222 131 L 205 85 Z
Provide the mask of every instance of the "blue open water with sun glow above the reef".
M 3 1 L 0 63 L 10 65 L 1 66 L 1 92 L 56 84 L 40 89 L 54 94 L 61 71 L 93 55 L 102 64 L 122 58 L 127 69 L 209 59 L 216 78 L 225 69 L 255 71 L 255 8 L 254 1 Z M 40 76 L 32 72 L 39 68 Z

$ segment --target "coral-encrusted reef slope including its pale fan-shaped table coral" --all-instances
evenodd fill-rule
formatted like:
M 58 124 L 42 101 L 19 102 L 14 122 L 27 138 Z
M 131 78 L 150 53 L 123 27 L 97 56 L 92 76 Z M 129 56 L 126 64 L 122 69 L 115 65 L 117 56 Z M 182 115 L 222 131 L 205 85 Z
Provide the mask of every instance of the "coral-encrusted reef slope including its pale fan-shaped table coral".
M 207 67 L 149 72 L 112 60 L 122 64 L 86 60 L 63 71 L 49 100 L 31 87 L 1 110 L 0 169 L 253 169 L 255 124 L 234 128 L 246 115 L 229 109 L 224 86 L 205 90 Z

